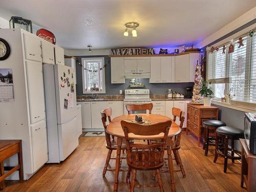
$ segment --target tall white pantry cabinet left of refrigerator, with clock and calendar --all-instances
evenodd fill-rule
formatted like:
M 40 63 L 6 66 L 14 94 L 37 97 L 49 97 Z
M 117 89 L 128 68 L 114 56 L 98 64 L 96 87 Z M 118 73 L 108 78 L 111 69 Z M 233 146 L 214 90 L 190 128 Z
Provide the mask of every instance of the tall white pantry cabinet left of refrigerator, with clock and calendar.
M 0 139 L 21 139 L 24 178 L 29 179 L 48 161 L 41 38 L 21 29 L 0 29 L 0 37 L 11 48 L 0 61 L 1 69 L 12 69 L 13 102 L 0 102 Z M 5 165 L 17 163 L 11 157 Z M 17 179 L 18 174 L 8 179 Z

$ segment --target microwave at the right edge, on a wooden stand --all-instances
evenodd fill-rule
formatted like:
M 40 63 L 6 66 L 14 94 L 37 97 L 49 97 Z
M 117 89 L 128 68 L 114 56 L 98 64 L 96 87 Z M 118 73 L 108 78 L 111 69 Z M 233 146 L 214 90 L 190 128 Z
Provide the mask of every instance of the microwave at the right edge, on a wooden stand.
M 250 153 L 256 155 L 256 113 L 245 113 L 244 137 Z

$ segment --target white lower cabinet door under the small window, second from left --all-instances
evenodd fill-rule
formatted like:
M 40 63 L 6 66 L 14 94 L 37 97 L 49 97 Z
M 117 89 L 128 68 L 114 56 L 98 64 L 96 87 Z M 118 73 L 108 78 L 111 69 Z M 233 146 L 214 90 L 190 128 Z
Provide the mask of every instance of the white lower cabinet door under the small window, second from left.
M 92 128 L 103 128 L 100 112 L 106 109 L 105 101 L 92 102 Z

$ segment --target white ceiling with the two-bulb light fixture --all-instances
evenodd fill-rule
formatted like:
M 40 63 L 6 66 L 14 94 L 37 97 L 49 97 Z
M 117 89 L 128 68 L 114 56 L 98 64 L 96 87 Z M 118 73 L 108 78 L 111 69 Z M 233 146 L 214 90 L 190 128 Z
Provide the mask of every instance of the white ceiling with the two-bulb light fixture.
M 196 45 L 256 6 L 255 0 L 0 0 L 0 17 L 21 16 L 66 49 Z M 83 19 L 93 18 L 85 26 Z M 135 21 L 138 37 L 123 36 Z

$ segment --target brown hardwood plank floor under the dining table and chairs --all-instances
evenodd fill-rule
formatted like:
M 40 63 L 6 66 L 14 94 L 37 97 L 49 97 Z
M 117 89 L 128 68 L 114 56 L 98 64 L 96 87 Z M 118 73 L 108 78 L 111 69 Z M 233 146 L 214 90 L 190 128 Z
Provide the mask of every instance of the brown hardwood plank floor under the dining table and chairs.
M 7 181 L 3 191 L 113 191 L 114 172 L 107 172 L 102 178 L 107 150 L 105 137 L 81 137 L 79 146 L 61 164 L 46 164 L 30 180 L 23 183 Z M 175 173 L 177 191 L 246 191 L 240 187 L 240 162 L 232 164 L 228 160 L 227 173 L 223 173 L 223 158 L 213 162 L 214 147 L 210 146 L 208 156 L 204 156 L 202 146 L 197 146 L 197 138 L 182 133 L 180 156 L 186 171 Z M 113 155 L 115 152 L 113 152 Z M 114 161 L 111 160 L 111 166 Z M 174 165 L 176 165 L 174 161 Z M 122 162 L 126 166 L 126 162 Z M 128 191 L 126 173 L 119 174 L 119 191 Z M 170 191 L 169 175 L 161 174 L 164 190 Z M 151 172 L 138 172 L 139 183 L 155 182 Z M 159 188 L 136 188 L 135 191 L 159 191 Z

